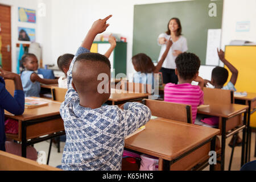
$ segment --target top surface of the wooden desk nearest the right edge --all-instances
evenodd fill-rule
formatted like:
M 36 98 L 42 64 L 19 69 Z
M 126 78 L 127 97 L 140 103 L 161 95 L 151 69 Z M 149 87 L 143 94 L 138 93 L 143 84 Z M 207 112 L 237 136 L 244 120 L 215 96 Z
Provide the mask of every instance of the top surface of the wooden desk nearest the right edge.
M 249 106 L 240 105 L 240 104 L 229 104 L 229 105 L 210 104 L 207 107 L 198 108 L 197 113 L 229 118 L 229 117 L 232 117 L 234 114 L 237 114 L 243 110 L 246 110 L 248 107 Z

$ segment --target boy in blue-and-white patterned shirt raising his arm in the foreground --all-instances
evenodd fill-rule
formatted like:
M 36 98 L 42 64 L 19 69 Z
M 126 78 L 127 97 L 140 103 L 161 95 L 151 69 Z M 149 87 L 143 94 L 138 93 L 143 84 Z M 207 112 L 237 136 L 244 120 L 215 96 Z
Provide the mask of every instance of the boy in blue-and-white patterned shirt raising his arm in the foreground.
M 102 106 L 110 96 L 110 61 L 89 50 L 111 16 L 93 23 L 67 73 L 68 91 L 60 106 L 67 135 L 61 160 L 64 170 L 121 170 L 125 137 L 151 117 L 150 109 L 138 102 L 121 108 Z M 100 74 L 105 84 L 98 89 Z

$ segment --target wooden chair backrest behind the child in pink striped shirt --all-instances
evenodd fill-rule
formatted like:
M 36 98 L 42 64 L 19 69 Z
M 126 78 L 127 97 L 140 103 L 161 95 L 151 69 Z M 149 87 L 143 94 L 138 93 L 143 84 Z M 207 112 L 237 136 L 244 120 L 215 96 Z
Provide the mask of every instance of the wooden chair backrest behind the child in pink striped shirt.
M 148 106 L 151 114 L 156 117 L 192 123 L 191 105 L 148 99 L 142 100 L 142 103 Z

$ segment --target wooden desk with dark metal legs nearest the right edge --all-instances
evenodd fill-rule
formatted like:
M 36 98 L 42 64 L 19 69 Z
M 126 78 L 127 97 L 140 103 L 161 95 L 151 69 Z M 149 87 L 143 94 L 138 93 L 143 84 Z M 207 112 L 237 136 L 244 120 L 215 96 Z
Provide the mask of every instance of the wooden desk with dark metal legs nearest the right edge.
M 246 129 L 246 111 L 248 106 L 239 104 L 230 105 L 209 105 L 208 107 L 201 107 L 197 109 L 198 114 L 212 115 L 220 117 L 220 122 L 218 128 L 221 130 L 221 170 L 224 170 L 225 166 L 225 144 L 226 138 L 233 134 L 238 133 L 238 131 L 243 130 L 242 138 L 242 156 L 241 156 L 241 166 L 245 163 L 245 129 Z M 243 123 L 242 123 L 242 114 Z M 228 133 L 228 131 L 234 131 Z

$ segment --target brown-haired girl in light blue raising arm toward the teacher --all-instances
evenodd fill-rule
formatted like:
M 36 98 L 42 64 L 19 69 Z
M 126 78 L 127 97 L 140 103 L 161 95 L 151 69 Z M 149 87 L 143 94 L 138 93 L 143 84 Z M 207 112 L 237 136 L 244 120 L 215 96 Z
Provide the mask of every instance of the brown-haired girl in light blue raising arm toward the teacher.
M 171 46 L 172 41 L 170 39 L 167 41 L 166 50 L 156 66 L 152 63 L 150 57 L 144 53 L 138 53 L 133 56 L 131 60 L 136 71 L 133 75 L 133 82 L 154 85 L 154 73 L 158 73 L 160 71 Z

